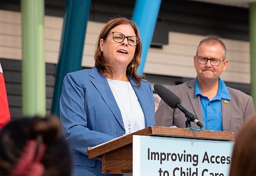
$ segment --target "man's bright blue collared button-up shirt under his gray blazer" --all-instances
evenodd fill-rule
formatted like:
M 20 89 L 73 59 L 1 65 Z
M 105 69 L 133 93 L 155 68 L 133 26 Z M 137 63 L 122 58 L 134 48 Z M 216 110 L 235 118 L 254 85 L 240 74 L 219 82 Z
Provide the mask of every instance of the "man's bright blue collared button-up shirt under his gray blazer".
M 201 94 L 196 78 L 195 97 L 197 96 L 200 96 L 204 129 L 222 131 L 221 100 L 223 99 L 226 103 L 231 100 L 229 91 L 224 81 L 219 78 L 218 93 L 213 99 L 209 100 L 208 97 Z

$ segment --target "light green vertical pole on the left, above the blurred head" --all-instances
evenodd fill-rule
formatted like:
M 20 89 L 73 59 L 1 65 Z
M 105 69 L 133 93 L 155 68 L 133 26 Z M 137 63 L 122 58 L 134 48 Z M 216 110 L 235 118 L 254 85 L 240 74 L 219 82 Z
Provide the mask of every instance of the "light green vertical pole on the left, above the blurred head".
M 22 114 L 46 115 L 44 0 L 23 0 Z

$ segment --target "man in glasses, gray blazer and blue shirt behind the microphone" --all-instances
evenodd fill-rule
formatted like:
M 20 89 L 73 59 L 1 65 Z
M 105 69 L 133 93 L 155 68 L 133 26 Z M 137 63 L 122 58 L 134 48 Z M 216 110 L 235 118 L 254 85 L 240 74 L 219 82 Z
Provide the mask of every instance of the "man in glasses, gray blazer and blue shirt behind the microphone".
M 220 78 L 227 65 L 224 42 L 218 36 L 208 36 L 200 41 L 194 56 L 197 77 L 170 90 L 204 124 L 204 129 L 236 134 L 248 116 L 254 113 L 254 106 L 250 96 L 227 87 Z M 162 100 L 155 118 L 158 126 L 185 127 L 184 114 L 179 109 L 168 107 Z M 194 123 L 191 125 L 198 128 Z

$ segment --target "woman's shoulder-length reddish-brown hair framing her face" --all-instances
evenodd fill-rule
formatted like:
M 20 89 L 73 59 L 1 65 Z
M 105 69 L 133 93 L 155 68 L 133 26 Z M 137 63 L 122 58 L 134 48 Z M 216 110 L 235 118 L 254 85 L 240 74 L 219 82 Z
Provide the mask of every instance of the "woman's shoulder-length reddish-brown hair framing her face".
M 103 57 L 103 53 L 100 51 L 100 39 L 105 40 L 106 37 L 108 37 L 109 32 L 113 28 L 115 28 L 118 25 L 122 25 L 122 24 L 131 25 L 131 27 L 133 28 L 133 30 L 135 32 L 135 35 L 138 38 L 140 38 L 138 27 L 132 20 L 129 20 L 129 19 L 123 18 L 123 17 L 118 17 L 118 18 L 114 18 L 114 19 L 110 20 L 108 23 L 106 23 L 106 25 L 101 30 L 99 37 L 97 39 L 96 51 L 94 54 L 95 67 L 97 67 L 99 73 L 101 73 L 103 75 L 113 75 L 115 73 L 115 71 L 109 64 L 108 60 L 106 60 Z M 138 82 L 138 84 L 136 86 L 140 86 L 141 79 L 144 78 L 142 76 L 139 76 L 137 73 L 137 70 L 138 70 L 138 67 L 140 64 L 141 52 L 142 52 L 142 44 L 141 44 L 141 41 L 139 40 L 139 42 L 136 46 L 136 49 L 135 49 L 133 60 L 128 64 L 127 69 L 126 69 L 126 75 L 131 78 L 134 78 Z

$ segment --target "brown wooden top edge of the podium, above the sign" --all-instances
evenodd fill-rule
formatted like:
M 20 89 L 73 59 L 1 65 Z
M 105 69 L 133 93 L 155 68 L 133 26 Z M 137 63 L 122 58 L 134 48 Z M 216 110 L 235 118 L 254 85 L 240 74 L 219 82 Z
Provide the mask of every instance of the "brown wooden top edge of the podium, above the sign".
M 140 136 L 159 136 L 159 137 L 179 137 L 190 139 L 205 139 L 205 140 L 220 140 L 232 141 L 234 134 L 230 131 L 212 131 L 202 130 L 195 131 L 186 128 L 171 128 L 165 126 L 150 126 L 134 133 L 124 135 L 120 138 L 114 139 L 110 142 L 103 143 L 98 147 L 87 147 L 88 157 L 90 159 L 102 158 L 102 155 L 113 151 L 117 148 L 133 143 L 133 135 Z

